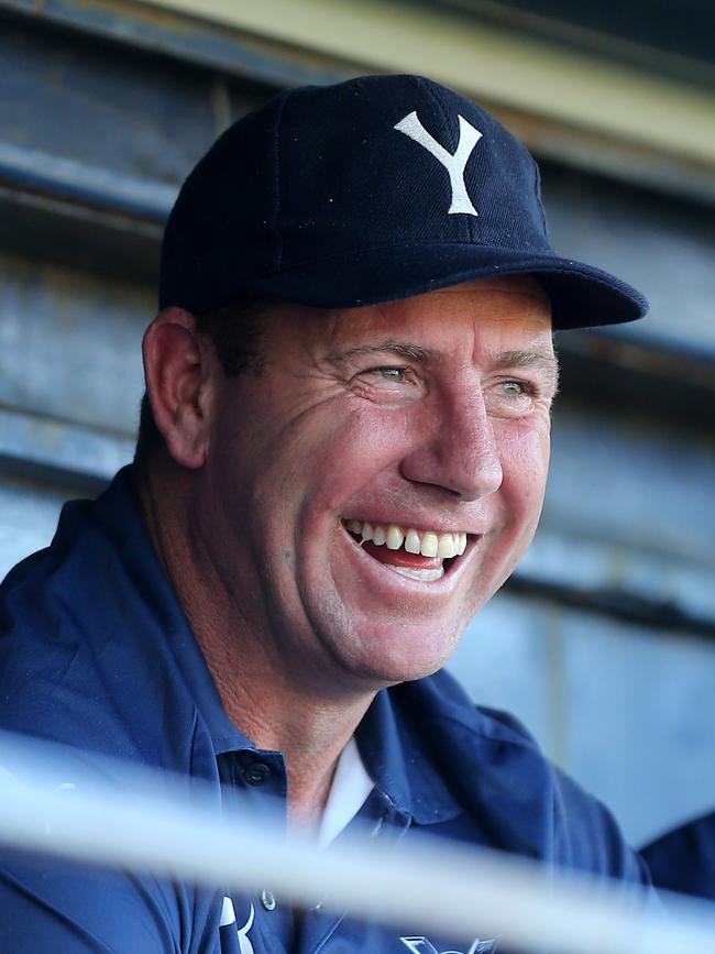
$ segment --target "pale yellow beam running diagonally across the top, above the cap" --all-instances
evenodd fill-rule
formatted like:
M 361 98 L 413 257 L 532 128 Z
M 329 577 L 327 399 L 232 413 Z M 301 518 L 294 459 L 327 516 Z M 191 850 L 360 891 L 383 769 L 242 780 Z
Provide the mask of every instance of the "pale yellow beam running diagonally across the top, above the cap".
M 380 0 L 145 2 L 715 165 L 714 95 L 449 12 Z

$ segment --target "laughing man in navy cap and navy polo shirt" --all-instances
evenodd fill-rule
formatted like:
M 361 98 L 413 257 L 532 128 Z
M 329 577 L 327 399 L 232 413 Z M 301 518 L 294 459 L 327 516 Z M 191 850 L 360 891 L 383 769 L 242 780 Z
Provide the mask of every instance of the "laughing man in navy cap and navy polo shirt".
M 430 676 L 536 529 L 552 328 L 646 308 L 553 252 L 528 152 L 419 77 L 293 90 L 185 183 L 160 299 L 135 465 L 4 584 L 4 726 L 272 794 L 323 843 L 356 816 L 647 881 L 514 720 Z M 455 943 L 270 885 L 3 884 L 13 952 Z

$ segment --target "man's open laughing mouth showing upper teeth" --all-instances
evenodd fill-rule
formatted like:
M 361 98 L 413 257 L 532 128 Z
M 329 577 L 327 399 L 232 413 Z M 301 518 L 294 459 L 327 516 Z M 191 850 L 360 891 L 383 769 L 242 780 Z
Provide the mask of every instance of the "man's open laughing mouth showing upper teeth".
M 404 577 L 427 583 L 441 579 L 468 544 L 464 531 L 446 534 L 358 519 L 344 519 L 342 524 L 375 560 Z

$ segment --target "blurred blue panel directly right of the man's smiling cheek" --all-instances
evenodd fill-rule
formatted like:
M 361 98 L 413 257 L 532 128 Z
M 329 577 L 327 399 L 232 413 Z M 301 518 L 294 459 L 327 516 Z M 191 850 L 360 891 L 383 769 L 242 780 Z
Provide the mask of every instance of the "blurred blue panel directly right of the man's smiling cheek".
M 672 601 L 715 623 L 715 435 L 564 404 L 552 440 L 524 571 Z

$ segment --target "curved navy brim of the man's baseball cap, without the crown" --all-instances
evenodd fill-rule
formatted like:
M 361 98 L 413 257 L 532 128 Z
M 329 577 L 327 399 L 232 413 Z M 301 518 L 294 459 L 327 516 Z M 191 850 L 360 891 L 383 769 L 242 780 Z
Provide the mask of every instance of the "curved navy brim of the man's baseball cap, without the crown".
M 359 308 L 409 298 L 471 278 L 534 274 L 551 298 L 553 327 L 634 321 L 646 298 L 614 275 L 557 255 L 458 243 L 391 245 L 284 268 L 245 290 L 321 308 Z

